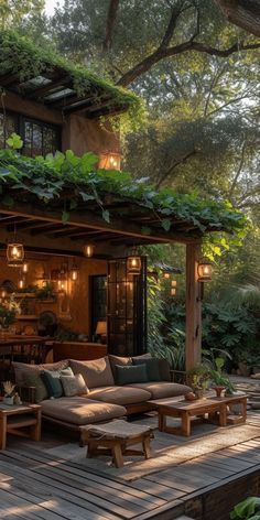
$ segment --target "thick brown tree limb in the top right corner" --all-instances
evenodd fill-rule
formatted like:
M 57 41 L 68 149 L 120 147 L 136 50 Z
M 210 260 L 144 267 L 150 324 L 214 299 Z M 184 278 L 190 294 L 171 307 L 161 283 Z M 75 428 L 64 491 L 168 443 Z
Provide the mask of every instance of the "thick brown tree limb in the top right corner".
M 260 0 L 215 0 L 215 2 L 227 20 L 260 36 Z

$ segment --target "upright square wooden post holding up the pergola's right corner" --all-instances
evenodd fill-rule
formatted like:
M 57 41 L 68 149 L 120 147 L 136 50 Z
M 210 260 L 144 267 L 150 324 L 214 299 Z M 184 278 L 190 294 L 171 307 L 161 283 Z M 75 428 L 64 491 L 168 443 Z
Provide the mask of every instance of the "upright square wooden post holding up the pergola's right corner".
M 201 241 L 186 246 L 186 370 L 201 361 L 202 356 L 202 291 L 197 281 Z

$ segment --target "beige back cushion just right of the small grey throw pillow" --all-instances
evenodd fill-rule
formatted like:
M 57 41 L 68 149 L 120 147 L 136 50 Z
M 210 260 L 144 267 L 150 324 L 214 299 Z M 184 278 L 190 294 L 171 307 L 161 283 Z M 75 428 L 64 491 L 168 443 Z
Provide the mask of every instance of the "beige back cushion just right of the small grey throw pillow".
M 93 361 L 76 361 L 69 359 L 74 373 L 82 373 L 87 388 L 111 387 L 115 384 L 108 357 L 94 359 Z

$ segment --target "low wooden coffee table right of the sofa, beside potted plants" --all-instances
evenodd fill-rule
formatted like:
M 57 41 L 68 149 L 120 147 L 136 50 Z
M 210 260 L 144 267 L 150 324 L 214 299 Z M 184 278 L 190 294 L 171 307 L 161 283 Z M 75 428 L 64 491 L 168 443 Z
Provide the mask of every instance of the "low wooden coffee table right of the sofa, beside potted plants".
M 239 423 L 245 423 L 247 418 L 247 397 L 230 396 L 227 398 L 198 399 L 196 401 L 173 401 L 165 399 L 158 401 L 158 416 L 160 432 L 175 433 L 185 436 L 191 435 L 191 420 L 193 416 L 203 419 L 207 422 L 217 422 L 219 426 L 226 426 L 228 423 L 228 407 L 231 404 L 241 404 L 241 416 Z M 205 415 L 207 414 L 207 419 Z M 167 426 L 166 418 L 180 418 L 181 427 Z

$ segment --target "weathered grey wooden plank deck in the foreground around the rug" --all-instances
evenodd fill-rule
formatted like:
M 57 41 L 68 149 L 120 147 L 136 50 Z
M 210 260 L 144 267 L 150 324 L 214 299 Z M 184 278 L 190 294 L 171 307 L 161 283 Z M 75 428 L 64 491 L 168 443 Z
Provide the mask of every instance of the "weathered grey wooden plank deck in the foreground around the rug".
M 260 495 L 260 414 L 249 413 L 248 423 L 259 427 L 259 436 L 133 480 L 122 470 L 100 470 L 102 462 L 86 467 L 86 448 L 58 446 L 50 435 L 40 443 L 10 437 L 0 452 L 0 518 L 226 520 L 239 499 Z M 68 456 L 71 447 L 82 461 Z

